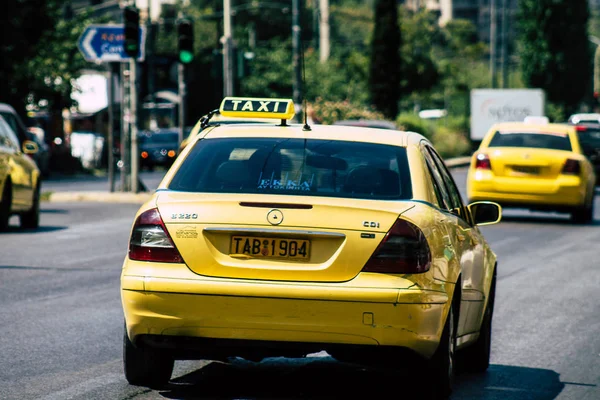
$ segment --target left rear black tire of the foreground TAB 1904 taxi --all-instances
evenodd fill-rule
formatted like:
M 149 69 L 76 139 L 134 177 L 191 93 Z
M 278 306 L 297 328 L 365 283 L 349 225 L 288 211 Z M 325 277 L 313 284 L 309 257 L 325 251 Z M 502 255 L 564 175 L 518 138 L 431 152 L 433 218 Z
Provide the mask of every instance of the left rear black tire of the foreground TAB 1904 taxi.
M 169 383 L 175 362 L 159 350 L 136 347 L 123 335 L 123 370 L 127 382 L 136 386 L 160 389 Z

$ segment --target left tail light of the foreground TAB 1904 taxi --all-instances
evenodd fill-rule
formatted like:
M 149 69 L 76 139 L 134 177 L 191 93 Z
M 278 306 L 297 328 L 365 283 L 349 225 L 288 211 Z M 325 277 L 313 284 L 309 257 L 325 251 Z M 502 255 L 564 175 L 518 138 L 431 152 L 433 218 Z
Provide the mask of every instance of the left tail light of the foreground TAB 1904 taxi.
M 137 261 L 183 262 L 158 209 L 144 211 L 136 219 L 129 240 L 129 258 Z

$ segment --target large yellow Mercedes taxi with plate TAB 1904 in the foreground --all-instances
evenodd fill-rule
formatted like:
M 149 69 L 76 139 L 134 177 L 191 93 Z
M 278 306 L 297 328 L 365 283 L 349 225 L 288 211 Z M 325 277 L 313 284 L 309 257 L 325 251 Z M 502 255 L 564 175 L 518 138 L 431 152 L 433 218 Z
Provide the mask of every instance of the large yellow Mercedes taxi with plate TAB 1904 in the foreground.
M 423 364 L 444 398 L 458 350 L 487 369 L 496 255 L 479 226 L 497 204 L 463 204 L 417 133 L 290 124 L 291 100 L 220 112 L 275 121 L 202 130 L 137 212 L 121 275 L 131 384 L 165 384 L 174 360 L 327 351 Z

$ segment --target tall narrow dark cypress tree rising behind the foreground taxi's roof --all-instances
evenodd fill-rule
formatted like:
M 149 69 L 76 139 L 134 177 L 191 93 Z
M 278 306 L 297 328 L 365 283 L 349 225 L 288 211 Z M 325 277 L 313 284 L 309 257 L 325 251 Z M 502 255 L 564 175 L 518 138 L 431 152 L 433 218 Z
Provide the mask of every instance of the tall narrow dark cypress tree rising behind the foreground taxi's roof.
M 401 44 L 396 0 L 376 0 L 369 92 L 373 105 L 390 119 L 398 114 Z

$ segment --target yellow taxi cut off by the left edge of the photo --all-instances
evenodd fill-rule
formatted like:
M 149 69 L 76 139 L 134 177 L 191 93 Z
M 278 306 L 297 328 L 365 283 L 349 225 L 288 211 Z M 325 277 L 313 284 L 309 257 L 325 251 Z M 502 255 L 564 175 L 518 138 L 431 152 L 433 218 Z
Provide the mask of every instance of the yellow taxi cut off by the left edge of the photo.
M 8 229 L 12 215 L 19 216 L 21 228 L 39 226 L 40 170 L 31 158 L 38 150 L 0 116 L 0 232 Z

